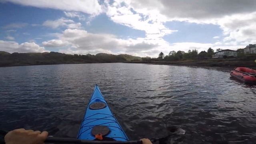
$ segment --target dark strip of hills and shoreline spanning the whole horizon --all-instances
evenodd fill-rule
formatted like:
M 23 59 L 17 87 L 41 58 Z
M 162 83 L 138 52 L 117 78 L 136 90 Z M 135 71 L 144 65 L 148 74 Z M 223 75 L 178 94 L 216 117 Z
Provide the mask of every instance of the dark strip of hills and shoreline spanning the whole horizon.
M 209 48 L 210 49 L 210 48 Z M 193 50 L 192 52 L 197 52 Z M 256 54 L 240 55 L 236 58 L 210 58 L 199 54 L 185 53 L 177 56 L 165 56 L 164 58 L 138 57 L 128 54 L 62 54 L 59 52 L 44 53 L 17 53 L 12 54 L 0 51 L 0 67 L 8 66 L 35 66 L 52 64 L 87 64 L 87 63 L 137 63 L 137 64 L 165 64 L 176 66 L 198 67 L 222 67 L 233 69 L 235 67 L 256 68 Z M 207 53 L 206 53 L 207 54 Z M 194 57 L 193 57 L 194 56 Z M 187 58 L 189 57 L 189 58 Z M 176 61 L 174 61 L 176 60 Z

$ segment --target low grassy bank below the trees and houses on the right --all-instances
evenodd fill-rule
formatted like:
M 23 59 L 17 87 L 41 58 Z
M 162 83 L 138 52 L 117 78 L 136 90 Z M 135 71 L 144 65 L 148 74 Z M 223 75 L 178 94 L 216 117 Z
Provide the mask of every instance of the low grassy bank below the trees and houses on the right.
M 254 60 L 237 60 L 236 58 L 216 58 L 204 60 L 178 60 L 178 61 L 136 61 L 128 63 L 167 64 L 176 66 L 210 66 L 210 67 L 250 67 L 256 68 Z

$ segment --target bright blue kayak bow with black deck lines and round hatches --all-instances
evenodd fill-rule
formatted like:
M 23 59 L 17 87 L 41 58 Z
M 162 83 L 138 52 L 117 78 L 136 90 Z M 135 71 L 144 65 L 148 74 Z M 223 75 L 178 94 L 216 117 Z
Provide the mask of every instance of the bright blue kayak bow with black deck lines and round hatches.
M 102 136 L 103 139 L 97 138 L 98 136 Z M 77 138 L 128 141 L 128 137 L 110 110 L 97 84 L 86 108 Z

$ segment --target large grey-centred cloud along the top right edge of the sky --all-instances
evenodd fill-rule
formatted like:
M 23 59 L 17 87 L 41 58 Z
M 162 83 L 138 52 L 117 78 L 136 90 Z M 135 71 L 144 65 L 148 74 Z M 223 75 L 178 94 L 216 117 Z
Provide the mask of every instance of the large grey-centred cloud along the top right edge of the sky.
M 155 13 L 168 19 L 206 20 L 255 11 L 255 0 L 129 0 L 134 10 Z

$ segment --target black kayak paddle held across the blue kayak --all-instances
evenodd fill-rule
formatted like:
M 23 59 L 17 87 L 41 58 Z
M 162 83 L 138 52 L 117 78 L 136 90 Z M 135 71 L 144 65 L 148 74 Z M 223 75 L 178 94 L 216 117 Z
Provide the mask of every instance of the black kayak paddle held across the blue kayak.
M 163 138 L 153 138 L 150 141 L 157 142 L 168 139 L 173 135 L 182 135 L 185 134 L 185 130 L 179 128 L 178 126 L 170 126 L 168 127 L 168 131 L 170 132 L 167 136 Z M 8 132 L 4 130 L 0 130 L 0 135 L 5 136 Z M 4 143 L 0 142 L 0 143 Z M 46 138 L 45 143 L 60 143 L 60 144 L 142 144 L 141 140 L 132 140 L 132 141 L 92 141 L 92 140 L 78 140 L 76 138 L 55 138 L 50 137 Z

